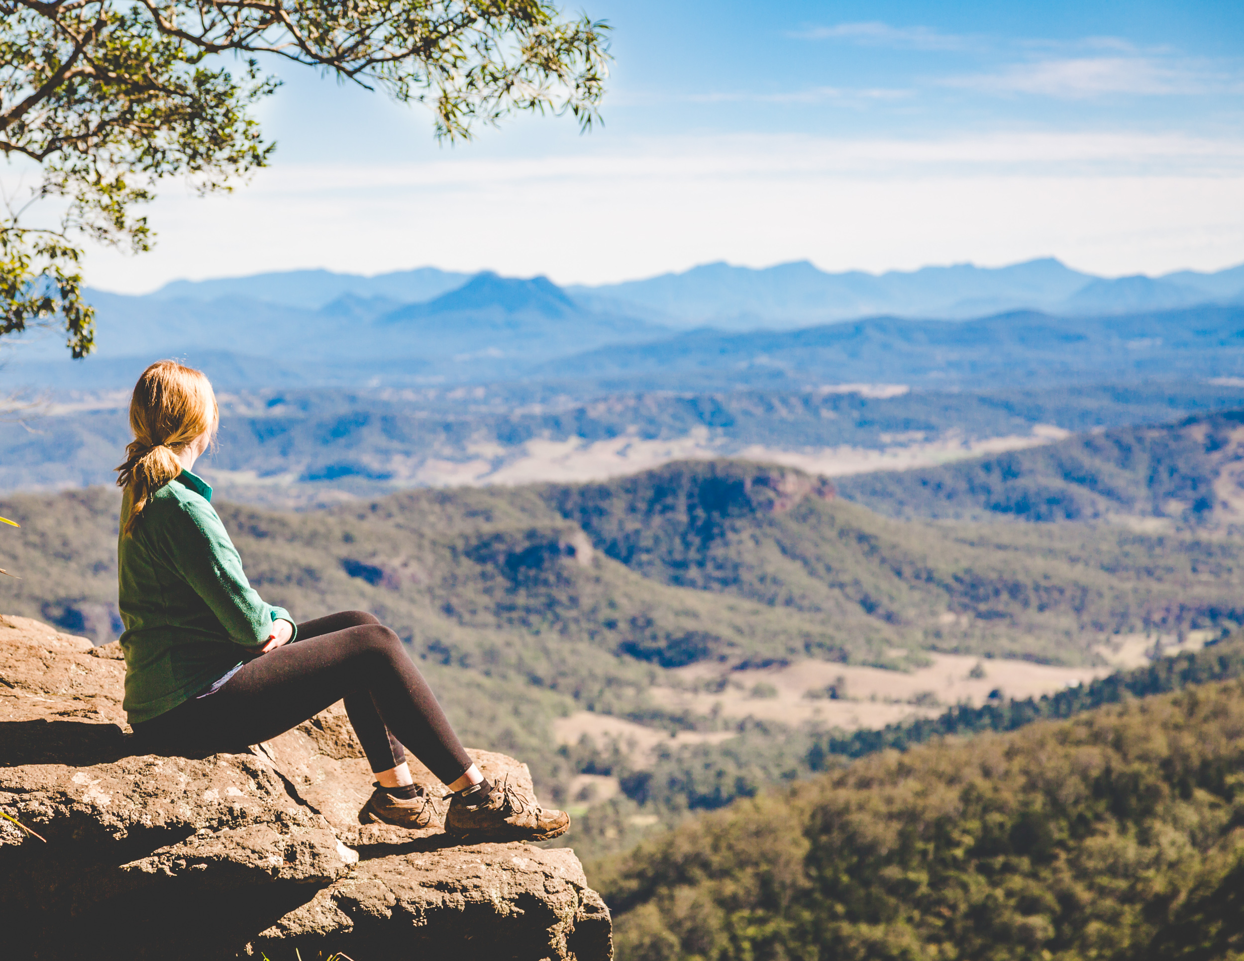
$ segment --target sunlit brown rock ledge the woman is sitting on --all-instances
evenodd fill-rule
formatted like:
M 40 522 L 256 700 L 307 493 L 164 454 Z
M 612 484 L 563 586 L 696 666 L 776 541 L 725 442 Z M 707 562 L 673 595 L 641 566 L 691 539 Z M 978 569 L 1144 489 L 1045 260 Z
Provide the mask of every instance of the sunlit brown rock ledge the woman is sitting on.
M 249 753 L 139 755 L 123 675 L 114 644 L 0 618 L 0 812 L 42 837 L 0 819 L 12 957 L 611 957 L 570 849 L 361 825 L 372 778 L 340 705 Z M 532 793 L 525 765 L 471 755 Z

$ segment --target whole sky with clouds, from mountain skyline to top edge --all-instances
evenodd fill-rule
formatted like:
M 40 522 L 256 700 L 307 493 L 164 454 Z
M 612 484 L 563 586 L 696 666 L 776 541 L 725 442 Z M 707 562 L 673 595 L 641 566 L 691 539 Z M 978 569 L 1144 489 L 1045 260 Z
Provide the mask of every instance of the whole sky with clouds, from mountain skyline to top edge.
M 440 145 L 419 107 L 281 68 L 272 168 L 207 201 L 169 185 L 158 251 L 92 255 L 88 278 L 1244 261 L 1242 5 L 583 9 L 615 27 L 602 129 L 535 118 Z

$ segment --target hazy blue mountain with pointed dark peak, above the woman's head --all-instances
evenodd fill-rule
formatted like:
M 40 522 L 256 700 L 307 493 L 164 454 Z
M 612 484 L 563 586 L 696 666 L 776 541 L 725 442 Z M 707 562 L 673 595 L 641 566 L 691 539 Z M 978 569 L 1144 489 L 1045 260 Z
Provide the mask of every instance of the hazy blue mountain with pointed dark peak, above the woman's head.
M 481 274 L 424 303 L 343 293 L 318 310 L 228 295 L 131 297 L 92 291 L 95 354 L 73 362 L 58 337 L 6 342 L 0 387 L 106 389 L 133 384 L 152 361 L 173 357 L 208 370 L 223 387 L 411 385 L 525 373 L 547 361 L 607 343 L 636 343 L 669 328 L 571 300 L 545 277 Z

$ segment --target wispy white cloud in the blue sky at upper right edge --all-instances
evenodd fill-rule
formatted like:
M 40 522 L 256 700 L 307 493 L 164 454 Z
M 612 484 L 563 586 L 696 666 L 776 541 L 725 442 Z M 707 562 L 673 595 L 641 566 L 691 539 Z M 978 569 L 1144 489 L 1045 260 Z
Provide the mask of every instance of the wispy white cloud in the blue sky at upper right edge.
M 1154 57 L 1066 57 L 1013 63 L 1001 70 L 942 81 L 993 93 L 1030 93 L 1060 99 L 1113 94 L 1194 96 L 1239 92 L 1238 76 L 1215 73 L 1200 65 Z

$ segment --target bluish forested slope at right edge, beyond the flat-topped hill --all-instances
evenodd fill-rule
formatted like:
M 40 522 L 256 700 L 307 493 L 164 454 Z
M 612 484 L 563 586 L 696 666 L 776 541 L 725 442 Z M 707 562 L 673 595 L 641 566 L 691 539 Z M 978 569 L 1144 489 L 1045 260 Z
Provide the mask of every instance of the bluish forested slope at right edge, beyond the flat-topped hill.
M 1113 428 L 942 467 L 845 477 L 843 496 L 892 517 L 1164 518 L 1244 523 L 1244 412 Z

